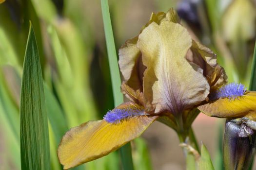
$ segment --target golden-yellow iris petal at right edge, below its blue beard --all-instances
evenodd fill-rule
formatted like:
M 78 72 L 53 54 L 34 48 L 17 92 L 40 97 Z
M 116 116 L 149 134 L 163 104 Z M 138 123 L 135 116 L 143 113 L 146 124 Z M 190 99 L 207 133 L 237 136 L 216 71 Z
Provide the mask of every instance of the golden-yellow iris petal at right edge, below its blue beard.
M 218 118 L 236 118 L 246 115 L 251 117 L 252 113 L 256 112 L 256 92 L 246 91 L 243 96 L 235 100 L 220 98 L 197 108 L 208 116 Z

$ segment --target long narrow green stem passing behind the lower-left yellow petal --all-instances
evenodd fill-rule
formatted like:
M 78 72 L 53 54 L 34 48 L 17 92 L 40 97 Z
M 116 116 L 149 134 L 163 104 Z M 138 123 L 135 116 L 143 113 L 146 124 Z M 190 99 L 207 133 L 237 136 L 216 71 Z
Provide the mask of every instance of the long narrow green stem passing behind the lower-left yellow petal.
M 120 92 L 121 79 L 118 69 L 117 52 L 115 48 L 114 35 L 112 31 L 108 0 L 101 0 L 101 10 L 106 37 L 108 60 L 110 66 L 111 83 L 114 95 L 115 106 L 123 102 L 123 96 Z M 128 143 L 120 148 L 123 170 L 134 170 L 132 159 L 131 144 Z

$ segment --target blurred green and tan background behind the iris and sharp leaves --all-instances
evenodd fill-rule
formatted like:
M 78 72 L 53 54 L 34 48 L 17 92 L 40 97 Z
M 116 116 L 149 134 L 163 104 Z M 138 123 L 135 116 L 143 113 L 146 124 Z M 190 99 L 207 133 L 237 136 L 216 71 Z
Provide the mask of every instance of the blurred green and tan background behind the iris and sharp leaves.
M 256 35 L 254 0 L 109 0 L 116 49 L 152 12 L 177 9 L 181 23 L 218 55 L 229 82 L 249 85 Z M 51 166 L 64 133 L 114 108 L 100 0 L 5 0 L 0 4 L 0 170 L 20 170 L 20 85 L 29 31 L 36 33 L 49 117 Z M 193 127 L 222 170 L 223 119 L 199 114 Z M 175 132 L 154 122 L 132 142 L 136 170 L 185 170 Z M 77 170 L 119 170 L 111 153 Z

